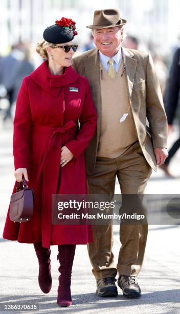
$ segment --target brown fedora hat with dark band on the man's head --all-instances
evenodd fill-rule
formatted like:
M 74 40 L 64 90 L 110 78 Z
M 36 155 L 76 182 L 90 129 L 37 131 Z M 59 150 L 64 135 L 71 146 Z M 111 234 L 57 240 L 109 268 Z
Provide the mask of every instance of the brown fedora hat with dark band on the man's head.
M 126 19 L 120 17 L 117 9 L 96 10 L 94 13 L 93 25 L 86 26 L 91 29 L 101 29 L 106 27 L 115 27 L 125 25 Z

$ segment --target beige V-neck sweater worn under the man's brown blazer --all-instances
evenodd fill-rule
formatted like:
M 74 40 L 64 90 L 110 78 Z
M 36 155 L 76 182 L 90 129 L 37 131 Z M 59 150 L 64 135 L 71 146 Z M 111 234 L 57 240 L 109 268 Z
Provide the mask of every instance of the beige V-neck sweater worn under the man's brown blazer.
M 129 107 L 126 72 L 123 73 L 123 69 L 122 60 L 116 76 L 111 78 L 100 63 L 102 112 L 97 155 L 101 157 L 117 158 L 138 140 L 131 108 L 125 121 L 120 123 L 120 118 Z

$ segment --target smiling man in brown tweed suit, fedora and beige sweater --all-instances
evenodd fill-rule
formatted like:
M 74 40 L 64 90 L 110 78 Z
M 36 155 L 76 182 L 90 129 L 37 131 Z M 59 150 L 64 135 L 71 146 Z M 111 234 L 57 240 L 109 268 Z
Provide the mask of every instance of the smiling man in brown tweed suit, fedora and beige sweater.
M 87 28 L 93 30 L 97 49 L 82 53 L 73 62 L 77 72 L 87 77 L 98 112 L 97 132 L 85 152 L 88 191 L 94 194 L 114 194 L 116 176 L 122 194 L 143 194 L 152 169 L 168 155 L 167 120 L 152 58 L 146 52 L 122 49 L 125 24 L 118 10 L 95 11 L 93 25 Z M 88 253 L 98 295 L 118 295 L 118 269 L 123 295 L 140 297 L 137 276 L 147 225 L 121 224 L 117 268 L 111 250 L 112 226 L 95 225 L 93 234 Z

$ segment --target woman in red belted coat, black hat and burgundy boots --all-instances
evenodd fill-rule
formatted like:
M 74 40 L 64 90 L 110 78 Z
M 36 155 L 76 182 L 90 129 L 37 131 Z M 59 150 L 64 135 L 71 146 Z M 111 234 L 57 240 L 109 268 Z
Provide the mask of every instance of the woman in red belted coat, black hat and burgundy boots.
M 3 233 L 5 239 L 34 244 L 44 293 L 52 286 L 50 245 L 58 245 L 59 306 L 72 304 L 76 244 L 93 241 L 87 225 L 51 224 L 52 194 L 87 192 L 83 151 L 96 130 L 88 82 L 71 67 L 76 34 L 75 22 L 64 17 L 45 29 L 36 50 L 46 60 L 22 81 L 14 118 L 15 178 L 22 182 L 24 175 L 34 189 L 34 213 L 29 222 L 20 224 L 10 221 L 8 211 Z

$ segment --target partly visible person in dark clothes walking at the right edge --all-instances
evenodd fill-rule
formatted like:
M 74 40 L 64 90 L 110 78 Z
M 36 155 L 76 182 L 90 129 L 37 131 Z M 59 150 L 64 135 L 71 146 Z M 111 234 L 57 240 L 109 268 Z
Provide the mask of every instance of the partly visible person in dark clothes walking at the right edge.
M 166 92 L 164 95 L 164 104 L 165 104 L 165 110 L 167 114 L 168 119 L 168 129 L 170 132 L 173 131 L 173 120 L 175 117 L 177 105 L 179 102 L 179 86 L 180 86 L 180 48 L 176 50 L 170 73 L 169 73 L 169 80 L 166 88 Z M 174 178 L 173 174 L 171 174 L 169 170 L 169 163 L 171 162 L 174 154 L 180 147 L 180 137 L 173 143 L 172 147 L 169 150 L 169 156 L 166 159 L 165 163 L 160 166 L 164 172 L 170 176 L 171 178 Z

